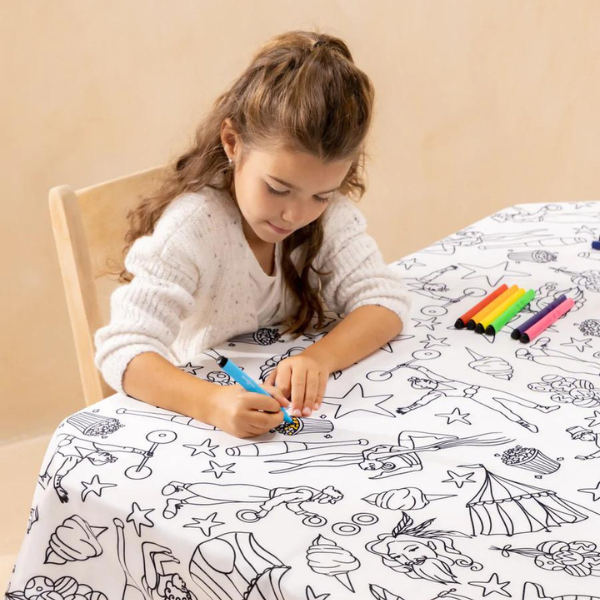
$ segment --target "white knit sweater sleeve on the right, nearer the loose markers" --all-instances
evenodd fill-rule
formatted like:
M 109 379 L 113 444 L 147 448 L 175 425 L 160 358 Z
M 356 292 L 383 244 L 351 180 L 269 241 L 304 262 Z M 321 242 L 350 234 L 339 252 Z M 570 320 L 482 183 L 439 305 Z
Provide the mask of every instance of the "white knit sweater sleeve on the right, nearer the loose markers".
M 367 223 L 352 200 L 339 197 L 328 207 L 324 242 L 315 266 L 331 271 L 321 277 L 325 304 L 347 315 L 367 305 L 388 308 L 408 323 L 410 296 L 396 271 L 385 264 Z

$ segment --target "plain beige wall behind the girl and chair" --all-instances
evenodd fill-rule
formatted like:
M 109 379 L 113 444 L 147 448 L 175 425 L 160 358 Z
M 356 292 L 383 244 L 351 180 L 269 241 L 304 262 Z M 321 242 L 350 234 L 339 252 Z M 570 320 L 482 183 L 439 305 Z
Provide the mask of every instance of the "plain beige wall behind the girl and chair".
M 520 202 L 600 196 L 600 2 L 0 2 L 0 443 L 81 406 L 47 192 L 160 164 L 275 33 L 348 42 L 391 261 Z

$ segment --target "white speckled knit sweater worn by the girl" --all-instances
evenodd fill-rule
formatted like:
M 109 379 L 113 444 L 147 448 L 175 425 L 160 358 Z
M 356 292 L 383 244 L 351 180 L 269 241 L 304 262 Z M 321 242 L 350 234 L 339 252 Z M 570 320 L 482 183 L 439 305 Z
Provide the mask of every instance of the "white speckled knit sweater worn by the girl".
M 330 310 L 346 315 L 369 304 L 385 306 L 404 324 L 409 297 L 388 267 L 366 221 L 349 198 L 335 193 L 324 213 L 324 243 L 314 262 Z M 297 264 L 298 252 L 292 253 Z M 96 366 L 123 392 L 123 374 L 142 352 L 181 365 L 207 348 L 274 323 L 258 321 L 257 267 L 229 192 L 205 187 L 168 205 L 151 235 L 138 238 L 125 258 L 134 275 L 111 296 L 111 320 L 95 335 Z M 279 267 L 278 267 L 279 268 Z M 318 285 L 316 275 L 312 285 Z M 283 313 L 297 306 L 284 289 Z M 282 310 L 277 311 L 279 316 Z M 273 317 L 277 317 L 274 314 Z

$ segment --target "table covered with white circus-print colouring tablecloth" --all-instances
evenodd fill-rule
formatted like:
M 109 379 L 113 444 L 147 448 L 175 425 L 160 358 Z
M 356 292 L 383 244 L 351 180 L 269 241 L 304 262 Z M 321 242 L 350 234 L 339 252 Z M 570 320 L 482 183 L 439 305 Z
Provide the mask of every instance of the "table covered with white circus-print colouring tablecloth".
M 598 600 L 599 233 L 599 203 L 520 204 L 397 261 L 402 334 L 261 438 L 122 395 L 70 416 L 7 598 Z M 528 345 L 527 311 L 494 338 L 455 329 L 502 283 L 576 305 Z M 217 350 L 264 381 L 327 316 Z M 181 368 L 231 383 L 204 355 Z

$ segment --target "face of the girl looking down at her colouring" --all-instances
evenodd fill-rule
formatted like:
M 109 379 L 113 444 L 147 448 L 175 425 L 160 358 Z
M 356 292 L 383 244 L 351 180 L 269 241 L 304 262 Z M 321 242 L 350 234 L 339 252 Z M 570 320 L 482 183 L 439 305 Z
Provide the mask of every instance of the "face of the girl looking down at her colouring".
M 325 164 L 307 153 L 249 150 L 234 175 L 248 242 L 281 242 L 318 219 L 351 165 Z

